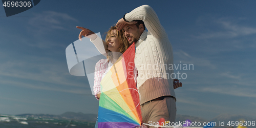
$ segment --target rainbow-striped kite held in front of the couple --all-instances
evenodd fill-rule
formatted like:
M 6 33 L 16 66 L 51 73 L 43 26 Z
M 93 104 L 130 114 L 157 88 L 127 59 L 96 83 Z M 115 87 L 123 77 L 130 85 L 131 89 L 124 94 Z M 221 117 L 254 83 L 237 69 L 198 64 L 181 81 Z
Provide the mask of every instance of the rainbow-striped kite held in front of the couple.
M 134 56 L 133 44 L 101 80 L 98 127 L 141 125 L 139 93 L 134 80 Z

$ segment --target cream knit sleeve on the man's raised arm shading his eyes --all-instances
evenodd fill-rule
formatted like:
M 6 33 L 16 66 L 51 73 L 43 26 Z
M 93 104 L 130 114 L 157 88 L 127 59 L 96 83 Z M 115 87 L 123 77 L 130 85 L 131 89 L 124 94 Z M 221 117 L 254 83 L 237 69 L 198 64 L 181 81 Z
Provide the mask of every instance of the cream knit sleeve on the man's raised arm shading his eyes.
M 156 12 L 148 5 L 142 5 L 130 13 L 126 13 L 124 18 L 128 22 L 132 22 L 132 20 L 143 20 L 148 32 L 156 38 L 167 36 L 164 28 L 160 24 Z

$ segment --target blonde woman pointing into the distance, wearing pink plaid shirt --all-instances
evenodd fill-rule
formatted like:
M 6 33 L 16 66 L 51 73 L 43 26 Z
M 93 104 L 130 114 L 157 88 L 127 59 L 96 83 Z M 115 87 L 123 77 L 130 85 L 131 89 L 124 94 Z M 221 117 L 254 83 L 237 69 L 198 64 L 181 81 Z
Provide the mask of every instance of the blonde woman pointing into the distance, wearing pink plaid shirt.
M 101 54 L 106 55 L 106 59 L 100 59 L 95 66 L 95 75 L 94 75 L 94 86 L 93 91 L 97 100 L 100 98 L 100 81 L 103 76 L 110 70 L 113 66 L 113 63 L 124 53 L 124 51 L 129 48 L 131 44 L 127 41 L 124 36 L 123 31 L 117 31 L 117 28 L 111 27 L 108 31 L 105 41 L 103 40 L 104 48 L 102 47 L 102 40 L 91 30 L 77 27 L 82 31 L 79 34 L 79 39 L 81 40 L 82 35 L 91 39 L 96 48 L 99 48 Z M 101 47 L 100 47 L 101 46 Z M 97 121 L 96 125 L 97 126 Z

